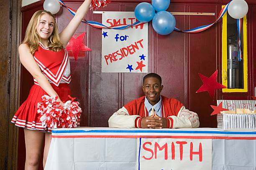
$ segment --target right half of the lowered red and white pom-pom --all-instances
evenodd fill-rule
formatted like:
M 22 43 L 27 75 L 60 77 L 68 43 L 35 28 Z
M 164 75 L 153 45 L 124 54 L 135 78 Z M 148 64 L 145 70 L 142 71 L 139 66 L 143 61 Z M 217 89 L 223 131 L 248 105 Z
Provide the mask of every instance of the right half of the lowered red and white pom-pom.
M 64 111 L 61 115 L 61 128 L 76 128 L 77 123 L 80 121 L 82 113 L 81 107 L 78 106 L 79 102 L 74 102 L 73 99 L 65 102 Z

